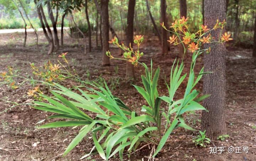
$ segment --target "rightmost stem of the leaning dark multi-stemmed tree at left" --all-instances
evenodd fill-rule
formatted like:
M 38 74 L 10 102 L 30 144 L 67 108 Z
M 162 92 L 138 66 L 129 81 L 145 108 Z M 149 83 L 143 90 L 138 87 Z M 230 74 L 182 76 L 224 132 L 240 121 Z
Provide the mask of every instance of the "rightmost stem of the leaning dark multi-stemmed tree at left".
M 53 16 L 53 11 L 52 11 L 52 6 L 50 5 L 50 2 L 47 3 L 47 10 L 48 10 L 48 15 L 49 18 L 52 22 L 52 26 L 53 26 L 53 38 L 54 38 L 54 44 L 56 45 L 56 50 L 59 49 L 59 38 L 58 38 L 58 31 L 57 31 L 57 24 L 54 20 L 54 16 Z M 58 15 L 56 15 L 56 20 L 58 18 Z

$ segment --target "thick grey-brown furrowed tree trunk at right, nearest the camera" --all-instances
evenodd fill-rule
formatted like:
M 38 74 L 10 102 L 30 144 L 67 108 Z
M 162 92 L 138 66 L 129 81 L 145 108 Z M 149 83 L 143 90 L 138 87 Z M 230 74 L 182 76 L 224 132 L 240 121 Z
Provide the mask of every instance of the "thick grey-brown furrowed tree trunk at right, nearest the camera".
M 209 28 L 213 28 L 216 19 L 223 21 L 225 14 L 226 0 L 204 0 L 204 23 Z M 218 38 L 220 29 L 213 30 L 211 35 Z M 205 48 L 209 44 L 204 45 Z M 204 75 L 203 93 L 211 96 L 203 101 L 203 106 L 209 111 L 202 113 L 201 129 L 206 130 L 207 136 L 216 139 L 217 136 L 225 134 L 225 96 L 226 96 L 226 48 L 223 44 L 218 44 L 211 49 L 209 54 L 204 54 L 205 71 L 212 71 Z

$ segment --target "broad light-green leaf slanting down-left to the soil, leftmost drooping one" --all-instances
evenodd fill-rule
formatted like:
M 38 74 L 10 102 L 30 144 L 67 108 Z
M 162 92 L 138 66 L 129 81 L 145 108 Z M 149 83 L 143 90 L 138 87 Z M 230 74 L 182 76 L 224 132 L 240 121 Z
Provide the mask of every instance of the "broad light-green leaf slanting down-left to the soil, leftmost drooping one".
M 68 154 L 78 143 L 87 135 L 87 133 L 91 130 L 91 128 L 95 125 L 95 122 L 92 122 L 90 125 L 88 125 L 87 128 L 82 130 L 76 137 L 71 141 L 69 146 L 66 148 L 63 156 Z

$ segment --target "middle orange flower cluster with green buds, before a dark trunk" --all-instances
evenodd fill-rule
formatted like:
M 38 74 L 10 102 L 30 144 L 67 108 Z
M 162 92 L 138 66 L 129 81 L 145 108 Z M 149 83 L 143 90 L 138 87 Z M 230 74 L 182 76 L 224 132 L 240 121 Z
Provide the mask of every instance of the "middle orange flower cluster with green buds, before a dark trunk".
M 124 53 L 123 53 L 124 59 L 123 60 L 127 60 L 127 61 L 131 62 L 134 66 L 137 66 L 140 57 L 143 56 L 143 52 L 139 51 L 140 44 L 143 42 L 143 40 L 144 40 L 144 37 L 142 35 L 136 35 L 134 37 L 133 42 L 137 45 L 137 50 L 134 50 L 132 48 L 131 44 L 129 44 L 129 47 L 125 46 L 124 43 L 122 43 L 122 42 L 121 42 L 121 44 L 119 44 L 118 39 L 116 37 L 111 39 L 111 41 L 109 41 L 109 43 L 118 46 L 119 48 L 121 48 L 124 51 Z M 114 58 L 111 55 L 110 51 L 107 51 L 106 54 L 111 59 Z M 118 59 L 118 58 L 115 58 L 115 59 Z

